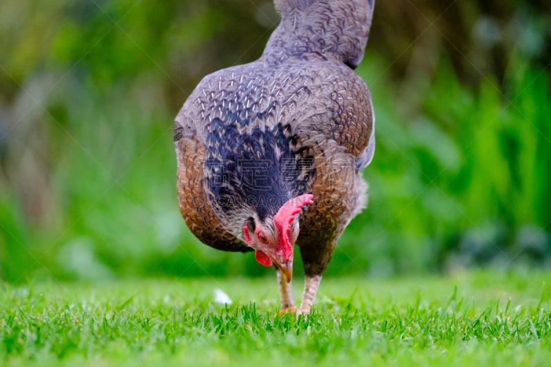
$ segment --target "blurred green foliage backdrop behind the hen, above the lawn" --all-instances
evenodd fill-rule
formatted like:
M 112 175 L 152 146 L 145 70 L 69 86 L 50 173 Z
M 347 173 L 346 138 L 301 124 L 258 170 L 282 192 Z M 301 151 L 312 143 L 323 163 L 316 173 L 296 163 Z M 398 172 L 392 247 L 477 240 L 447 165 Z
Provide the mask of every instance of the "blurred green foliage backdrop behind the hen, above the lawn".
M 271 273 L 189 233 L 172 128 L 278 20 L 269 0 L 1 1 L 0 279 Z M 550 25 L 543 0 L 377 2 L 369 207 L 326 274 L 551 266 Z

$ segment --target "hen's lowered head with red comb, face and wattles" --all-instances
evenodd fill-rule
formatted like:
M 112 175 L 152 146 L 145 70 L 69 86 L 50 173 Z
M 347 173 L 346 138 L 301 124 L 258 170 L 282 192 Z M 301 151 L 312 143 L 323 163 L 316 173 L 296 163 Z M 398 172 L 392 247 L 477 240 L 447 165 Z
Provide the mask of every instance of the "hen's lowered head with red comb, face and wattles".
M 255 249 L 256 261 L 264 266 L 275 264 L 287 282 L 293 275 L 293 245 L 299 231 L 296 215 L 311 204 L 313 195 L 306 193 L 287 201 L 271 219 L 249 218 L 243 224 L 243 238 Z

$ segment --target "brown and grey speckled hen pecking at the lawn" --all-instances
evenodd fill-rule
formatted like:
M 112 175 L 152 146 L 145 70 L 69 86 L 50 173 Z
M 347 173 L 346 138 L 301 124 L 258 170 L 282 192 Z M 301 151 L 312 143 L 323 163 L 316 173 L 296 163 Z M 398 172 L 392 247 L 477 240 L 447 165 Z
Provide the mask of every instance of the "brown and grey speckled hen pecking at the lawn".
M 354 69 L 373 0 L 274 3 L 282 19 L 260 59 L 205 76 L 176 116 L 178 200 L 201 242 L 275 267 L 282 312 L 309 313 L 337 240 L 366 205 L 375 120 Z

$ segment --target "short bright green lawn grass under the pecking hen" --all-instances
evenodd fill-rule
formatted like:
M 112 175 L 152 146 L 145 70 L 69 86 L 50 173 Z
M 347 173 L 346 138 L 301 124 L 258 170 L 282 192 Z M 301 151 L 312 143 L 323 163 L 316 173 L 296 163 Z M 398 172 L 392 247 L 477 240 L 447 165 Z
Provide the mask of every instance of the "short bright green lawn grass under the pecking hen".
M 275 316 L 275 279 L 3 284 L 0 364 L 543 366 L 550 275 L 327 277 L 298 320 Z M 233 304 L 215 304 L 215 289 Z

